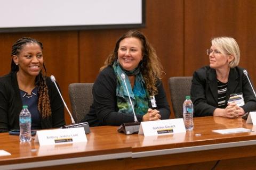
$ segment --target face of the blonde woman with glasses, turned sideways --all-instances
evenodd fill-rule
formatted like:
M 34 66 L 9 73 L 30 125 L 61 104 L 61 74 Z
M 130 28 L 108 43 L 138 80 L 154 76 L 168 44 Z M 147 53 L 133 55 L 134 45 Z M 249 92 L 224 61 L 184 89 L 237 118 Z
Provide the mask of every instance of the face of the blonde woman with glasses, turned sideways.
M 215 46 L 211 46 L 211 53 L 209 55 L 210 67 L 212 69 L 222 69 L 229 67 L 229 62 L 234 59 L 234 56 L 229 54 L 222 54 Z

